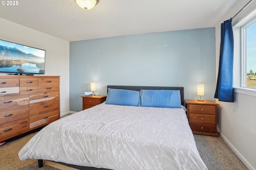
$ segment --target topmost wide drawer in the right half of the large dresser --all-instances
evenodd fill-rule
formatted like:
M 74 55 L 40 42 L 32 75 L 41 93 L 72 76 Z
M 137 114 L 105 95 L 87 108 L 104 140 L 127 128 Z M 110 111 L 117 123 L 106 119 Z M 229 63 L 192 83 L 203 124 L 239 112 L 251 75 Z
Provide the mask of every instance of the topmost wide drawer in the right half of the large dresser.
M 32 93 L 29 95 L 29 102 L 30 103 L 37 103 L 41 101 L 48 101 L 48 100 L 54 100 L 59 98 L 59 92 L 41 92 L 41 93 Z

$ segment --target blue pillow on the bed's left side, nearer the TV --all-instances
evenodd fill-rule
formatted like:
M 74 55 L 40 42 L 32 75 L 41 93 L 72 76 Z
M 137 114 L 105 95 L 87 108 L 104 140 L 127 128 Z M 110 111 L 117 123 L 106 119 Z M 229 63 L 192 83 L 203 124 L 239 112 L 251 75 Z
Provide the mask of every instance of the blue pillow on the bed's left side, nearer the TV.
M 124 89 L 108 89 L 106 104 L 138 106 L 140 100 L 140 92 Z

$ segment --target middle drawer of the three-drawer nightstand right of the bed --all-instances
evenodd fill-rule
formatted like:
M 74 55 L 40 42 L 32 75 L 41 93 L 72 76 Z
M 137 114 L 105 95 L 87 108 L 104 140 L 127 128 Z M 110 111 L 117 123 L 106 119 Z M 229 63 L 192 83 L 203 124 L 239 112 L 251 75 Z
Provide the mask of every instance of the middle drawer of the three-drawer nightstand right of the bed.
M 189 121 L 195 123 L 210 123 L 215 124 L 215 115 L 204 115 L 204 114 L 189 114 Z

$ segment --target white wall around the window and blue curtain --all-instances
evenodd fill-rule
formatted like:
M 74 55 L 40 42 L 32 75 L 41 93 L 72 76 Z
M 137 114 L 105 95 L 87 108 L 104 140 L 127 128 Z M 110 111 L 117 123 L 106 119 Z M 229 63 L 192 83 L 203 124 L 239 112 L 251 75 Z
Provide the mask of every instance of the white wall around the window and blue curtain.
M 249 0 L 239 0 L 228 14 L 216 25 L 216 75 L 220 55 L 220 24 L 232 18 Z M 233 19 L 234 31 L 234 87 L 240 87 L 240 33 L 237 23 L 241 18 L 256 9 L 256 2 Z M 242 93 L 241 93 L 242 92 Z M 218 129 L 221 137 L 251 170 L 256 169 L 256 97 L 255 92 L 236 89 L 234 103 L 218 102 Z

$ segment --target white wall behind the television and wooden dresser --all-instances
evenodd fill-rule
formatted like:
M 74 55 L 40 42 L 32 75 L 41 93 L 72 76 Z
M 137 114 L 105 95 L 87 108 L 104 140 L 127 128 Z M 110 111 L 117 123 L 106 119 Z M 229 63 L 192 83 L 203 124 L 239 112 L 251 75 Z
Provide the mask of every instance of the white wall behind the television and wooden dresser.
M 60 114 L 69 112 L 69 42 L 2 18 L 0 23 L 1 40 L 46 50 L 45 75 L 60 76 Z

